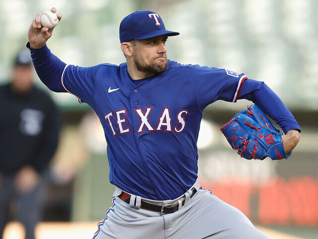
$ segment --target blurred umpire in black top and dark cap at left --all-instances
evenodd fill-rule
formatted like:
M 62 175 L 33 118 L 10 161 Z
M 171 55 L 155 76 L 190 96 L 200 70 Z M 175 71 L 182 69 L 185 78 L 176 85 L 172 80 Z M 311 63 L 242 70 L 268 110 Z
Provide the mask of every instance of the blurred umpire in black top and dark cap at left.
M 0 238 L 9 220 L 9 206 L 25 227 L 25 238 L 35 239 L 41 220 L 45 175 L 59 138 L 57 107 L 34 86 L 30 53 L 17 54 L 12 77 L 0 86 Z

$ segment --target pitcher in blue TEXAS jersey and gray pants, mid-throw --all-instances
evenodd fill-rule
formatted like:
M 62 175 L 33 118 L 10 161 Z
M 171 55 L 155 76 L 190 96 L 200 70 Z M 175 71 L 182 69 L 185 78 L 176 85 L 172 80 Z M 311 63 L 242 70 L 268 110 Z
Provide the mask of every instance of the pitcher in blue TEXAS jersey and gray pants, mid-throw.
M 251 100 L 283 128 L 286 153 L 298 143 L 300 127 L 263 82 L 168 60 L 165 41 L 178 34 L 166 30 L 156 12 L 133 12 L 119 27 L 127 62 L 83 68 L 50 52 L 46 41 L 52 29 L 41 26 L 40 14 L 29 28 L 27 47 L 42 82 L 88 104 L 105 132 L 116 191 L 93 238 L 268 238 L 238 209 L 199 187 L 202 113 L 217 100 Z

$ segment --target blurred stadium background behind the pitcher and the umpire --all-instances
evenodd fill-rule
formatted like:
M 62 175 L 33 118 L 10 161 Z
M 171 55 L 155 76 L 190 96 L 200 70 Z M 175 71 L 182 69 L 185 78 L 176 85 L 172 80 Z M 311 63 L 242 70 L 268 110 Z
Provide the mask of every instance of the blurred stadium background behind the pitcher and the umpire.
M 0 0 L 0 84 L 10 78 L 16 52 L 25 48 L 32 19 L 52 6 L 63 18 L 48 47 L 66 63 L 124 62 L 120 21 L 135 10 L 149 9 L 159 13 L 167 29 L 181 33 L 167 41 L 169 59 L 264 81 L 300 123 L 299 145 L 288 160 L 239 158 L 219 128 L 252 103 L 216 102 L 206 108 L 199 134 L 201 186 L 266 230 L 318 238 L 317 0 Z M 34 79 L 44 88 L 36 74 Z M 76 97 L 50 94 L 64 124 L 51 165 L 44 221 L 97 225 L 114 190 L 102 127 Z M 19 227 L 9 226 L 6 237 L 16 238 Z M 87 237 L 97 230 L 91 228 Z M 38 230 L 43 232 L 42 224 Z

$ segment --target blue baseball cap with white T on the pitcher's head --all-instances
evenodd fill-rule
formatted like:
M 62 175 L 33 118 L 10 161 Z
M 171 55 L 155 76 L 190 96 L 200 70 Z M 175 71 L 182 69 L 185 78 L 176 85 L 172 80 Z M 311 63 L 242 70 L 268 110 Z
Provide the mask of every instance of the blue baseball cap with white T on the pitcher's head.
M 135 11 L 126 16 L 119 26 L 120 43 L 147 39 L 160 35 L 175 36 L 179 32 L 165 29 L 162 18 L 154 11 Z

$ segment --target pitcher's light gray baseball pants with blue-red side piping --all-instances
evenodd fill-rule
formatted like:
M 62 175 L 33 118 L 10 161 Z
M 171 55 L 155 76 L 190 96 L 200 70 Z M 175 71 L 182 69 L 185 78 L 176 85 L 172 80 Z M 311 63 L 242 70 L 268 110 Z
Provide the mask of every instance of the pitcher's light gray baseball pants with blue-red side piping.
M 117 196 L 122 192 L 116 188 L 111 208 L 106 218 L 98 224 L 93 239 L 268 239 L 258 231 L 237 208 L 223 202 L 210 191 L 199 189 L 190 198 L 185 193 L 184 206 L 171 214 L 161 215 L 145 209 L 132 207 Z M 183 195 L 182 195 L 183 196 Z M 181 196 L 181 197 L 182 197 Z M 132 195 L 131 202 L 135 201 Z M 175 200 L 146 200 L 157 205 L 166 205 Z M 136 204 L 140 197 L 136 197 Z

